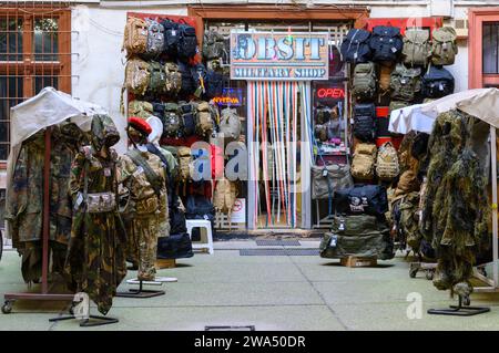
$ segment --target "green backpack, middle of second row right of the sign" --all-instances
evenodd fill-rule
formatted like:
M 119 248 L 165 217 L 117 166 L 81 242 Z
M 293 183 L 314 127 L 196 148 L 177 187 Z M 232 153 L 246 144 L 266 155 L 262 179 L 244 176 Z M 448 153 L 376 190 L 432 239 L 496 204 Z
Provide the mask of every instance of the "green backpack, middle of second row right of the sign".
M 411 102 L 421 92 L 421 70 L 407 69 L 404 64 L 397 64 L 391 72 L 390 87 L 391 98 Z

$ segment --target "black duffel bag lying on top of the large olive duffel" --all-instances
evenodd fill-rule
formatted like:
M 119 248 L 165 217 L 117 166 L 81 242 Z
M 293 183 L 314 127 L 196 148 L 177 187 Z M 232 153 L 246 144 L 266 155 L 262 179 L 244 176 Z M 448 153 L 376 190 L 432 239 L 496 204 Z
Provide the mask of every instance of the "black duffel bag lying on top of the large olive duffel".
M 388 211 L 388 197 L 383 185 L 356 184 L 353 187 L 336 190 L 333 197 L 336 214 L 383 217 Z

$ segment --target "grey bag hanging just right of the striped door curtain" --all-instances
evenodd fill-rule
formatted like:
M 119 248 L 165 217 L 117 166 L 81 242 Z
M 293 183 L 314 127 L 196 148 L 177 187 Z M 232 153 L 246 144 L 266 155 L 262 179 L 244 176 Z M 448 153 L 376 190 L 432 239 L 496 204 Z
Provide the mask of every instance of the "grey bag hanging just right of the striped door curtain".
M 333 198 L 334 191 L 354 185 L 348 165 L 312 166 L 312 199 Z

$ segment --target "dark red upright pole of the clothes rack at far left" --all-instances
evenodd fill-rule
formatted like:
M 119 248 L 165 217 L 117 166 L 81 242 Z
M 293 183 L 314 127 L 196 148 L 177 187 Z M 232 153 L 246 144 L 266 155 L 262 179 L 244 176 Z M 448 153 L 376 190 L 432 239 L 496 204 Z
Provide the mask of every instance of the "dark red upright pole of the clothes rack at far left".
M 49 222 L 50 222 L 50 134 L 51 128 L 45 129 L 45 156 L 43 163 L 43 232 L 42 232 L 42 294 L 49 292 Z

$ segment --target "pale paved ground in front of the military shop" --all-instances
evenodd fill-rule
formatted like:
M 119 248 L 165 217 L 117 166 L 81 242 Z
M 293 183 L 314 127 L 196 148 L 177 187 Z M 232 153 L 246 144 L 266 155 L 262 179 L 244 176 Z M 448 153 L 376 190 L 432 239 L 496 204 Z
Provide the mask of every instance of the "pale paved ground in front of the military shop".
M 301 240 L 299 248 L 318 241 Z M 118 324 L 93 330 L 204 330 L 205 325 L 255 325 L 256 330 L 499 330 L 499 294 L 473 294 L 471 304 L 491 312 L 471 316 L 428 315 L 429 308 L 454 303 L 424 273 L 410 279 L 401 257 L 379 261 L 377 268 L 350 269 L 318 256 L 240 256 L 255 241 L 215 242 L 213 256 L 196 253 L 159 276 L 166 295 L 115 298 L 110 316 Z M 279 248 L 279 247 L 266 247 Z M 289 247 L 298 248 L 298 247 Z M 130 272 L 132 278 L 135 272 Z M 120 290 L 133 288 L 126 283 Z M 6 251 L 0 261 L 0 299 L 7 291 L 24 291 L 20 258 Z M 422 318 L 409 320 L 409 293 L 422 299 Z M 75 321 L 49 323 L 63 313 L 63 303 L 18 302 L 11 314 L 0 313 L 0 330 L 89 330 Z M 95 307 L 92 307 L 95 313 Z

